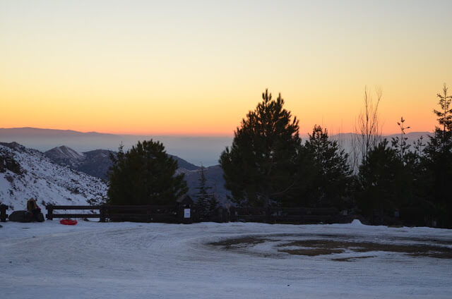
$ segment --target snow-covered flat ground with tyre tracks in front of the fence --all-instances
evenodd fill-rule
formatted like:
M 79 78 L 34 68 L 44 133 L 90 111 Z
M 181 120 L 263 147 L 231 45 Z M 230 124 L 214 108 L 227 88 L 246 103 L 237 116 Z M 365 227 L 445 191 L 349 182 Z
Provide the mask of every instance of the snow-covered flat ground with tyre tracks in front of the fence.
M 451 298 L 452 260 L 403 252 L 290 255 L 291 240 L 452 247 L 452 231 L 353 224 L 59 221 L 0 228 L 1 298 Z M 210 243 L 266 238 L 255 244 Z M 293 248 L 288 245 L 287 248 Z

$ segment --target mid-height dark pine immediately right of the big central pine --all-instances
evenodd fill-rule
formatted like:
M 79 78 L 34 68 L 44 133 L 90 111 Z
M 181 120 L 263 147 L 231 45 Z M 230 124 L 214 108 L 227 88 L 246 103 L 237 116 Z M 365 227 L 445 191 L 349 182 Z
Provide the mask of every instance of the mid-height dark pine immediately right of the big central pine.
M 311 204 L 342 207 L 350 192 L 351 174 L 348 154 L 340 150 L 336 140 L 329 140 L 328 130 L 314 126 L 304 145 L 314 159 L 316 175 L 310 188 Z

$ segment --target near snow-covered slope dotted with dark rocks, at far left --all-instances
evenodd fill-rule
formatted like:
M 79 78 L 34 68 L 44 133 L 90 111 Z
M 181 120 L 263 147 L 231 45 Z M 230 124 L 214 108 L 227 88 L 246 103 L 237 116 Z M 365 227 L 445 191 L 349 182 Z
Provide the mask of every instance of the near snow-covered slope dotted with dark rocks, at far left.
M 16 142 L 0 143 L 1 161 L 4 165 L 0 167 L 0 202 L 11 209 L 25 209 L 30 197 L 42 207 L 49 203 L 97 204 L 107 195 L 107 184 L 100 178 L 55 164 L 42 152 Z M 12 167 L 15 164 L 20 167 Z

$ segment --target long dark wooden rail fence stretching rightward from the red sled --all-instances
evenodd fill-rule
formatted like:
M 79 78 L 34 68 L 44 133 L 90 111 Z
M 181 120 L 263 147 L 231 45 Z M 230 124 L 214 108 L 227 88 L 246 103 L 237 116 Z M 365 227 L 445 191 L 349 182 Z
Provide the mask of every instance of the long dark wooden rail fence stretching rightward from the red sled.
M 311 223 L 335 223 L 346 222 L 349 219 L 341 216 L 337 209 L 333 208 L 307 208 L 307 207 L 230 207 L 229 210 L 218 208 L 212 214 L 202 218 L 196 208 L 190 209 L 187 218 L 184 214 L 184 205 L 174 206 L 122 206 L 122 205 L 97 205 L 97 206 L 66 206 L 47 205 L 46 218 L 99 218 L 101 222 L 107 221 L 139 221 L 139 222 L 166 222 L 166 223 L 192 223 L 200 221 L 215 222 L 264 222 L 280 224 L 311 224 Z M 57 210 L 90 210 L 89 214 L 55 213 Z M 94 212 L 98 211 L 98 212 Z

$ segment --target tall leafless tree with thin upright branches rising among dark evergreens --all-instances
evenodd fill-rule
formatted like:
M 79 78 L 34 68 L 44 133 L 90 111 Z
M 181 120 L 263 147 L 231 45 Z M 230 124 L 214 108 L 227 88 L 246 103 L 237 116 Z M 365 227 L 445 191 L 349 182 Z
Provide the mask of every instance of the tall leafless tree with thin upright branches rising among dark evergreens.
M 352 142 L 352 150 L 355 147 L 355 169 L 359 159 L 366 163 L 369 150 L 375 147 L 381 140 L 381 126 L 379 123 L 379 104 L 383 97 L 380 87 L 375 87 L 375 99 L 371 92 L 364 88 L 364 107 L 359 113 L 355 125 L 355 140 Z

